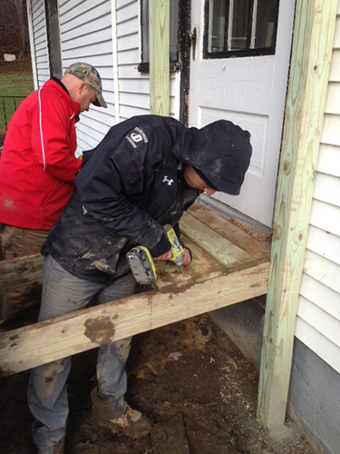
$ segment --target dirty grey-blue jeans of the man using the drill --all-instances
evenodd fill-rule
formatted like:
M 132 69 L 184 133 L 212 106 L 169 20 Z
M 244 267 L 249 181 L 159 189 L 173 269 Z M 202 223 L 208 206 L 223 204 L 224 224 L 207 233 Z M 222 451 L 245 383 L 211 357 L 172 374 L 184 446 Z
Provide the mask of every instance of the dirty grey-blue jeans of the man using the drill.
M 94 304 L 118 300 L 135 293 L 136 282 L 131 273 L 109 286 L 84 281 L 65 271 L 53 257 L 44 259 L 43 296 L 39 321 L 84 309 Z M 125 363 L 131 338 L 98 348 L 98 388 L 92 391 L 93 405 L 101 406 L 110 419 L 121 416 L 126 409 L 127 388 Z M 71 358 L 55 360 L 32 370 L 28 383 L 28 404 L 34 416 L 33 437 L 40 454 L 53 454 L 63 446 L 68 416 L 66 380 Z

